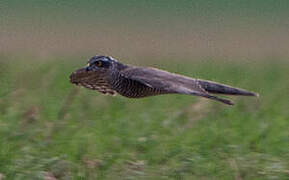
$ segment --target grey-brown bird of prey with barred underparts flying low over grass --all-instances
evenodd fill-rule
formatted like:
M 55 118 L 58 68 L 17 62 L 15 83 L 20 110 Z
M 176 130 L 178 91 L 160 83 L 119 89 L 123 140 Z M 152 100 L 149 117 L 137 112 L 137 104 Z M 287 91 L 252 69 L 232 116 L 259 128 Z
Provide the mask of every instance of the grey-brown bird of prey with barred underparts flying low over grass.
M 151 67 L 122 64 L 110 56 L 102 55 L 93 56 L 86 67 L 73 72 L 70 82 L 103 94 L 118 93 L 128 98 L 187 94 L 233 105 L 230 100 L 211 94 L 258 96 L 257 93 L 225 84 L 194 79 Z

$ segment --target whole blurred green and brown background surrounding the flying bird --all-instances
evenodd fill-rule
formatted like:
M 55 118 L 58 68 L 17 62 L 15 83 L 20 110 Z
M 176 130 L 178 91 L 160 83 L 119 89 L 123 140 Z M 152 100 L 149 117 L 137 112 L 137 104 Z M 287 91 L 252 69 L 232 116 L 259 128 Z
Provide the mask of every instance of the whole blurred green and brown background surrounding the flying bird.
M 2 0 L 0 180 L 289 178 L 288 17 L 282 0 Z M 69 84 L 96 54 L 260 98 Z

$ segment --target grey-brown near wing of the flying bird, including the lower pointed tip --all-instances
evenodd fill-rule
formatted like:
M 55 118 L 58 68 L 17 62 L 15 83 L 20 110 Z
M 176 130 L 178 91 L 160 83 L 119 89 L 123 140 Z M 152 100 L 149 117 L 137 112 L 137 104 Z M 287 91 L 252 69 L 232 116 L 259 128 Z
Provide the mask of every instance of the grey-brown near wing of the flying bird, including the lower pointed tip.
M 164 93 L 179 93 L 202 96 L 232 105 L 229 100 L 210 95 L 198 79 L 170 73 L 156 68 L 129 67 L 121 71 L 128 79 L 142 83 L 148 87 L 162 90 Z

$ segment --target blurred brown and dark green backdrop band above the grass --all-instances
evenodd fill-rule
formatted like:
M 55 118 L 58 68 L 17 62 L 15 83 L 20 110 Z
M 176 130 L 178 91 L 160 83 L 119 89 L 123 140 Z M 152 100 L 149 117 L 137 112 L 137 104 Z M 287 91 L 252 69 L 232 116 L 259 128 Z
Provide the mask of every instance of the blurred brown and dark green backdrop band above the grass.
M 286 1 L 1 1 L 2 54 L 288 57 Z

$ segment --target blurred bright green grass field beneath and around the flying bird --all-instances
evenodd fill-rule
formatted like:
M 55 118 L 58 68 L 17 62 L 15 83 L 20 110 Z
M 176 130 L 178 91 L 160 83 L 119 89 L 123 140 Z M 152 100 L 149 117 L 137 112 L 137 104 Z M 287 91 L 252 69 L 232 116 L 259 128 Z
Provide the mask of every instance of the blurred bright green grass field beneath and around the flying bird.
M 0 177 L 289 178 L 289 63 L 141 64 L 260 94 L 232 97 L 233 107 L 185 95 L 103 96 L 69 83 L 85 63 L 1 57 Z

